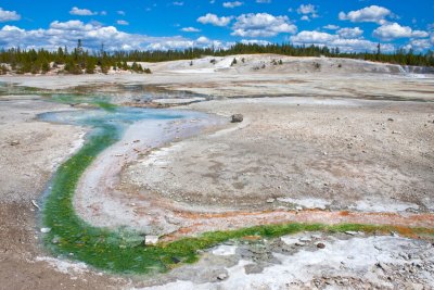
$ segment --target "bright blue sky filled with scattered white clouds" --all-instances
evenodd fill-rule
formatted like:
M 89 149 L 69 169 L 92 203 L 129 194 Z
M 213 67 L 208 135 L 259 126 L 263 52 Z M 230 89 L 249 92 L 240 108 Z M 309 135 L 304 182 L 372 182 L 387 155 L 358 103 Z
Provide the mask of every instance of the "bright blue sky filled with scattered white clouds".
M 0 0 L 0 48 L 434 50 L 434 0 Z

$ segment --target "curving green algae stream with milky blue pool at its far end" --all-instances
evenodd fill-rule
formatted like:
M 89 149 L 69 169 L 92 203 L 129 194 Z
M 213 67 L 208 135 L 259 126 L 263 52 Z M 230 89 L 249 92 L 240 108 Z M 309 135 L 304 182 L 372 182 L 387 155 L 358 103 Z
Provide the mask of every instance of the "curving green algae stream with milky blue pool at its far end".
M 105 148 L 118 141 L 125 128 L 142 118 L 186 118 L 186 112 L 152 109 L 115 108 L 100 104 L 100 110 L 46 113 L 41 119 L 76 125 L 92 126 L 84 147 L 60 166 L 49 189 L 42 212 L 42 224 L 51 228 L 43 237 L 44 244 L 55 255 L 88 263 L 113 273 L 150 274 L 173 268 L 179 261 L 192 263 L 197 260 L 197 250 L 203 250 L 245 236 L 279 237 L 302 230 L 397 230 L 388 226 L 368 225 L 265 225 L 252 228 L 215 231 L 194 238 L 144 247 L 143 232 L 125 228 L 111 230 L 87 224 L 76 213 L 73 197 L 77 182 L 85 169 Z M 432 235 L 425 229 L 411 232 Z M 408 234 L 408 232 L 407 232 Z

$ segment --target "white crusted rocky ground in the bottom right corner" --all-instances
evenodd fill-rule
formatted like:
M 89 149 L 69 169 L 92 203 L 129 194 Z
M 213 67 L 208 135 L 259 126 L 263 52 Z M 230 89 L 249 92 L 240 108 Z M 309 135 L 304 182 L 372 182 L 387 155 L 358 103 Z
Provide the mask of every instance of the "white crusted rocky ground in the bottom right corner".
M 306 236 L 306 234 L 303 235 Z M 289 238 L 298 240 L 303 235 Z M 217 279 L 214 282 L 204 283 L 176 280 L 162 286 L 133 289 L 312 289 L 321 283 L 327 289 L 397 289 L 400 287 L 429 289 L 434 287 L 434 249 L 431 243 L 384 236 L 344 240 L 329 237 L 327 241 L 323 239 L 324 237 L 318 240 L 326 244 L 326 249 L 322 250 L 295 247 L 298 250 L 292 254 L 273 253 L 276 263 L 266 266 L 257 274 L 246 274 L 245 270 L 246 265 L 255 264 L 255 262 L 240 260 L 234 266 L 226 267 L 224 273 L 227 273 L 228 277 L 224 280 Z M 233 247 L 229 249 L 219 247 L 212 254 L 234 255 Z M 411 259 L 407 257 L 408 254 Z M 414 265 L 418 270 L 409 272 L 410 265 Z M 388 277 L 394 273 L 395 275 L 404 273 L 404 276 L 408 275 L 408 278 L 396 277 L 390 280 Z M 420 283 L 413 282 L 414 279 L 410 278 L 411 276 L 417 277 Z

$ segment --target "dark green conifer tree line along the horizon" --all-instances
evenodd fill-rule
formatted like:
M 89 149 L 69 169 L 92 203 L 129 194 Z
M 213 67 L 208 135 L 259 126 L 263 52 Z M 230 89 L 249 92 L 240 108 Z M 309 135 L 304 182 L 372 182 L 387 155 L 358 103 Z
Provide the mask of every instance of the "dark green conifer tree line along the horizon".
M 97 71 L 107 73 L 110 70 L 151 73 L 138 62 L 164 62 L 176 60 L 193 60 L 204 55 L 227 56 L 232 54 L 275 53 L 290 56 L 329 56 L 347 58 L 400 65 L 434 66 L 434 52 L 414 53 L 412 50 L 399 49 L 393 53 L 383 53 L 381 45 L 372 52 L 341 52 L 339 48 L 318 46 L 293 46 L 291 43 L 260 46 L 255 43 L 237 43 L 229 49 L 190 48 L 184 50 L 155 51 L 100 51 L 89 52 L 82 49 L 81 41 L 68 51 L 59 48 L 56 51 L 44 49 L 22 50 L 20 48 L 0 50 L 0 74 L 13 71 L 17 74 L 48 73 L 52 68 L 69 74 L 93 74 Z M 128 64 L 132 63 L 132 64 Z

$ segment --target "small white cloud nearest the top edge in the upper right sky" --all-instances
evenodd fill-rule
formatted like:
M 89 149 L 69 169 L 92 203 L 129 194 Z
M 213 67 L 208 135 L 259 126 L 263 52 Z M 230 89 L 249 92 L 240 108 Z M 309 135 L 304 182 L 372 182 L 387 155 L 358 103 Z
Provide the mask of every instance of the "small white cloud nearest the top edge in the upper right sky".
M 379 24 L 385 23 L 385 17 L 392 16 L 392 12 L 383 7 L 371 5 L 348 13 L 340 12 L 339 18 L 341 21 L 350 22 L 374 22 Z

